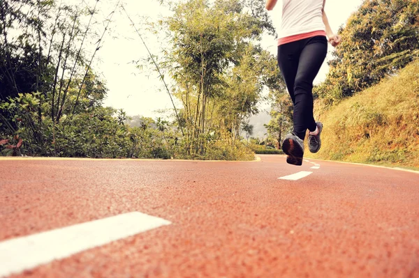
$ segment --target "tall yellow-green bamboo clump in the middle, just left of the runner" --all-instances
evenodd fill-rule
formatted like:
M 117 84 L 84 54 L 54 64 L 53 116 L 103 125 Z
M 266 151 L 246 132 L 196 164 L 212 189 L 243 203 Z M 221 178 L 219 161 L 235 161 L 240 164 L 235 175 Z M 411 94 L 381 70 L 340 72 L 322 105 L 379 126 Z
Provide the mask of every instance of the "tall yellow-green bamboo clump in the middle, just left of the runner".
M 175 81 L 173 95 L 184 106 L 179 115 L 192 155 L 205 152 L 212 130 L 223 139 L 229 132 L 234 142 L 242 121 L 257 112 L 267 86 L 262 64 L 271 57 L 253 42 L 273 32 L 263 4 L 189 0 L 175 4 L 174 15 L 161 22 L 172 42 L 161 68 Z

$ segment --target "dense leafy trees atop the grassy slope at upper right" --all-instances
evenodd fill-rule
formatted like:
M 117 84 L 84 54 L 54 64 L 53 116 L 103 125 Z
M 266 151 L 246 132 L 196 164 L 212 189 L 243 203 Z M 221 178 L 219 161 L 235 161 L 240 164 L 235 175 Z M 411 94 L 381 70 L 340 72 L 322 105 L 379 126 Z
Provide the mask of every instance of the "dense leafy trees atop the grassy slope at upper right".
M 365 0 L 341 29 L 342 43 L 315 93 L 332 103 L 377 84 L 419 56 L 419 1 Z

